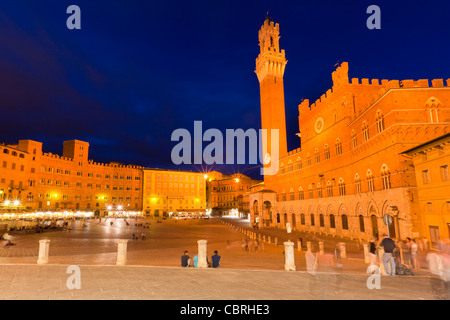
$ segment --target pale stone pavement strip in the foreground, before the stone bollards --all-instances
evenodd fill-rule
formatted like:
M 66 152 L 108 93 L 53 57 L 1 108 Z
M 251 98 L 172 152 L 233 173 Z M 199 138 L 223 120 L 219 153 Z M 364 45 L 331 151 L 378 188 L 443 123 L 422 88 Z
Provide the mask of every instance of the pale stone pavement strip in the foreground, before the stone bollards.
M 381 277 L 368 289 L 367 275 L 242 269 L 80 266 L 80 289 L 69 289 L 67 265 L 1 265 L 0 298 L 32 300 L 434 300 L 428 277 Z

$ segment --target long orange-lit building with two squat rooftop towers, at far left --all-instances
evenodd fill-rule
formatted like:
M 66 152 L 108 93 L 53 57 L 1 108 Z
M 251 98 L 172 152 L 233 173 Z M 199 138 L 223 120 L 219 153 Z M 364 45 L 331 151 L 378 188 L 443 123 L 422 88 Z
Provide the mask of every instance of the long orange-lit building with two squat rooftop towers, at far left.
M 0 145 L 0 209 L 142 210 L 141 167 L 88 157 L 89 143 L 79 140 L 65 141 L 62 156 L 33 140 Z

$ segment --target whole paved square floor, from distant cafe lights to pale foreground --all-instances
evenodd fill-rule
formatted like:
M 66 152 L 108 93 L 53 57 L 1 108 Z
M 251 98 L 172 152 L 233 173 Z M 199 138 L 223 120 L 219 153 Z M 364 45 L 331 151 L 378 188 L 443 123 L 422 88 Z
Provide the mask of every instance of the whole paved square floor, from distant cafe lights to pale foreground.
M 224 219 L 235 225 L 241 220 Z M 113 222 L 113 225 L 110 222 Z M 284 271 L 284 247 L 264 244 L 255 251 L 242 248 L 244 235 L 218 219 L 91 220 L 74 222 L 69 231 L 43 234 L 14 232 L 15 246 L 0 248 L 2 299 L 448 299 L 443 283 L 421 269 L 415 276 L 381 277 L 381 289 L 366 286 L 367 265 L 357 242 L 347 242 L 348 259 L 342 268 L 306 272 L 304 252 L 295 249 L 297 271 Z M 279 242 L 298 238 L 276 229 L 255 230 Z M 131 240 L 132 234 L 139 240 Z M 146 234 L 142 240 L 141 234 Z M 325 241 L 325 251 L 336 239 L 300 235 L 305 241 Z M 49 262 L 37 265 L 40 239 L 50 240 Z M 126 266 L 116 266 L 117 241 L 129 239 Z M 197 240 L 208 240 L 208 255 L 218 250 L 218 269 L 181 268 L 180 256 L 197 252 Z M 422 257 L 423 258 L 423 257 Z M 69 265 L 81 271 L 81 289 L 68 289 Z M 180 288 L 182 287 L 182 290 Z

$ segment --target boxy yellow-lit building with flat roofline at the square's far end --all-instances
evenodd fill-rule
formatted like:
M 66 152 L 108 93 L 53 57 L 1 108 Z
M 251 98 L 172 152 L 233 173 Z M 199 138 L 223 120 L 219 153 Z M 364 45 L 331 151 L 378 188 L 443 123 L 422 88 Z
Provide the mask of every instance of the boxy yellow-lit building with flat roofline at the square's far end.
M 206 213 L 203 173 L 143 169 L 144 212 L 162 217 L 170 213 Z

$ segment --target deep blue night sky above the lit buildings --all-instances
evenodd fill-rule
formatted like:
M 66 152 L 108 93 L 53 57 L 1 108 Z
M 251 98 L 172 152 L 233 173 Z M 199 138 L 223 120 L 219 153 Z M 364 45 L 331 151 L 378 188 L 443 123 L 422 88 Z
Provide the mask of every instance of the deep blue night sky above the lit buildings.
M 81 30 L 66 27 L 72 4 Z M 381 30 L 366 27 L 372 4 Z M 178 169 L 175 129 L 260 128 L 254 69 L 268 10 L 288 60 L 289 149 L 298 104 L 331 88 L 338 62 L 350 78 L 450 78 L 450 1 L 2 0 L 0 142 L 62 154 L 80 139 L 98 162 Z M 252 167 L 212 169 L 258 178 Z

